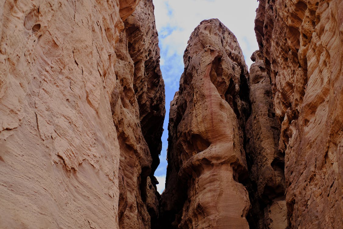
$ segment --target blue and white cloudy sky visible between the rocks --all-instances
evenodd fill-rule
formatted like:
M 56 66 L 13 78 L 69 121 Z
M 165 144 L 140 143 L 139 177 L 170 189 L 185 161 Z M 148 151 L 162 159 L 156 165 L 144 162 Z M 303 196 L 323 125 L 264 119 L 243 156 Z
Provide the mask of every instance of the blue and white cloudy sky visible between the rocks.
M 170 101 L 179 90 L 184 71 L 183 55 L 189 36 L 201 21 L 217 18 L 237 37 L 248 68 L 250 56 L 258 49 L 254 26 L 256 0 L 154 0 L 155 20 L 161 49 L 161 70 L 166 91 L 166 118 L 162 135 L 162 152 L 155 176 L 157 191 L 165 187 L 168 147 L 168 120 Z

